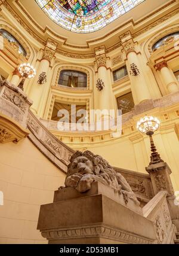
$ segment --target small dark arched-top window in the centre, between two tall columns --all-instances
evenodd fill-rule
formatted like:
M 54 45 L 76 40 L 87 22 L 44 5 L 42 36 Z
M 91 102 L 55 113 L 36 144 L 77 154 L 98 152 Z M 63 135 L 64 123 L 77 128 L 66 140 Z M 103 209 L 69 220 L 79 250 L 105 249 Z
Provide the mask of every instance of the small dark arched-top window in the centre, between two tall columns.
M 58 84 L 72 88 L 87 87 L 87 74 L 74 70 L 63 70 L 60 72 Z

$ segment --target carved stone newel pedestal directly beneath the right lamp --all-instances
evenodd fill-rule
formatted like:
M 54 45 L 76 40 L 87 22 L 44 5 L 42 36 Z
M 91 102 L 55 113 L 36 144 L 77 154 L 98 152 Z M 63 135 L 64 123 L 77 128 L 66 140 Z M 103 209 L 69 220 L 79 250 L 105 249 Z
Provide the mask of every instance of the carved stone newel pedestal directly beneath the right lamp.
M 159 191 L 167 191 L 167 196 L 174 196 L 174 188 L 169 177 L 171 169 L 165 162 L 150 164 L 146 167 L 147 172 L 150 174 L 152 181 L 153 191 L 157 194 Z

